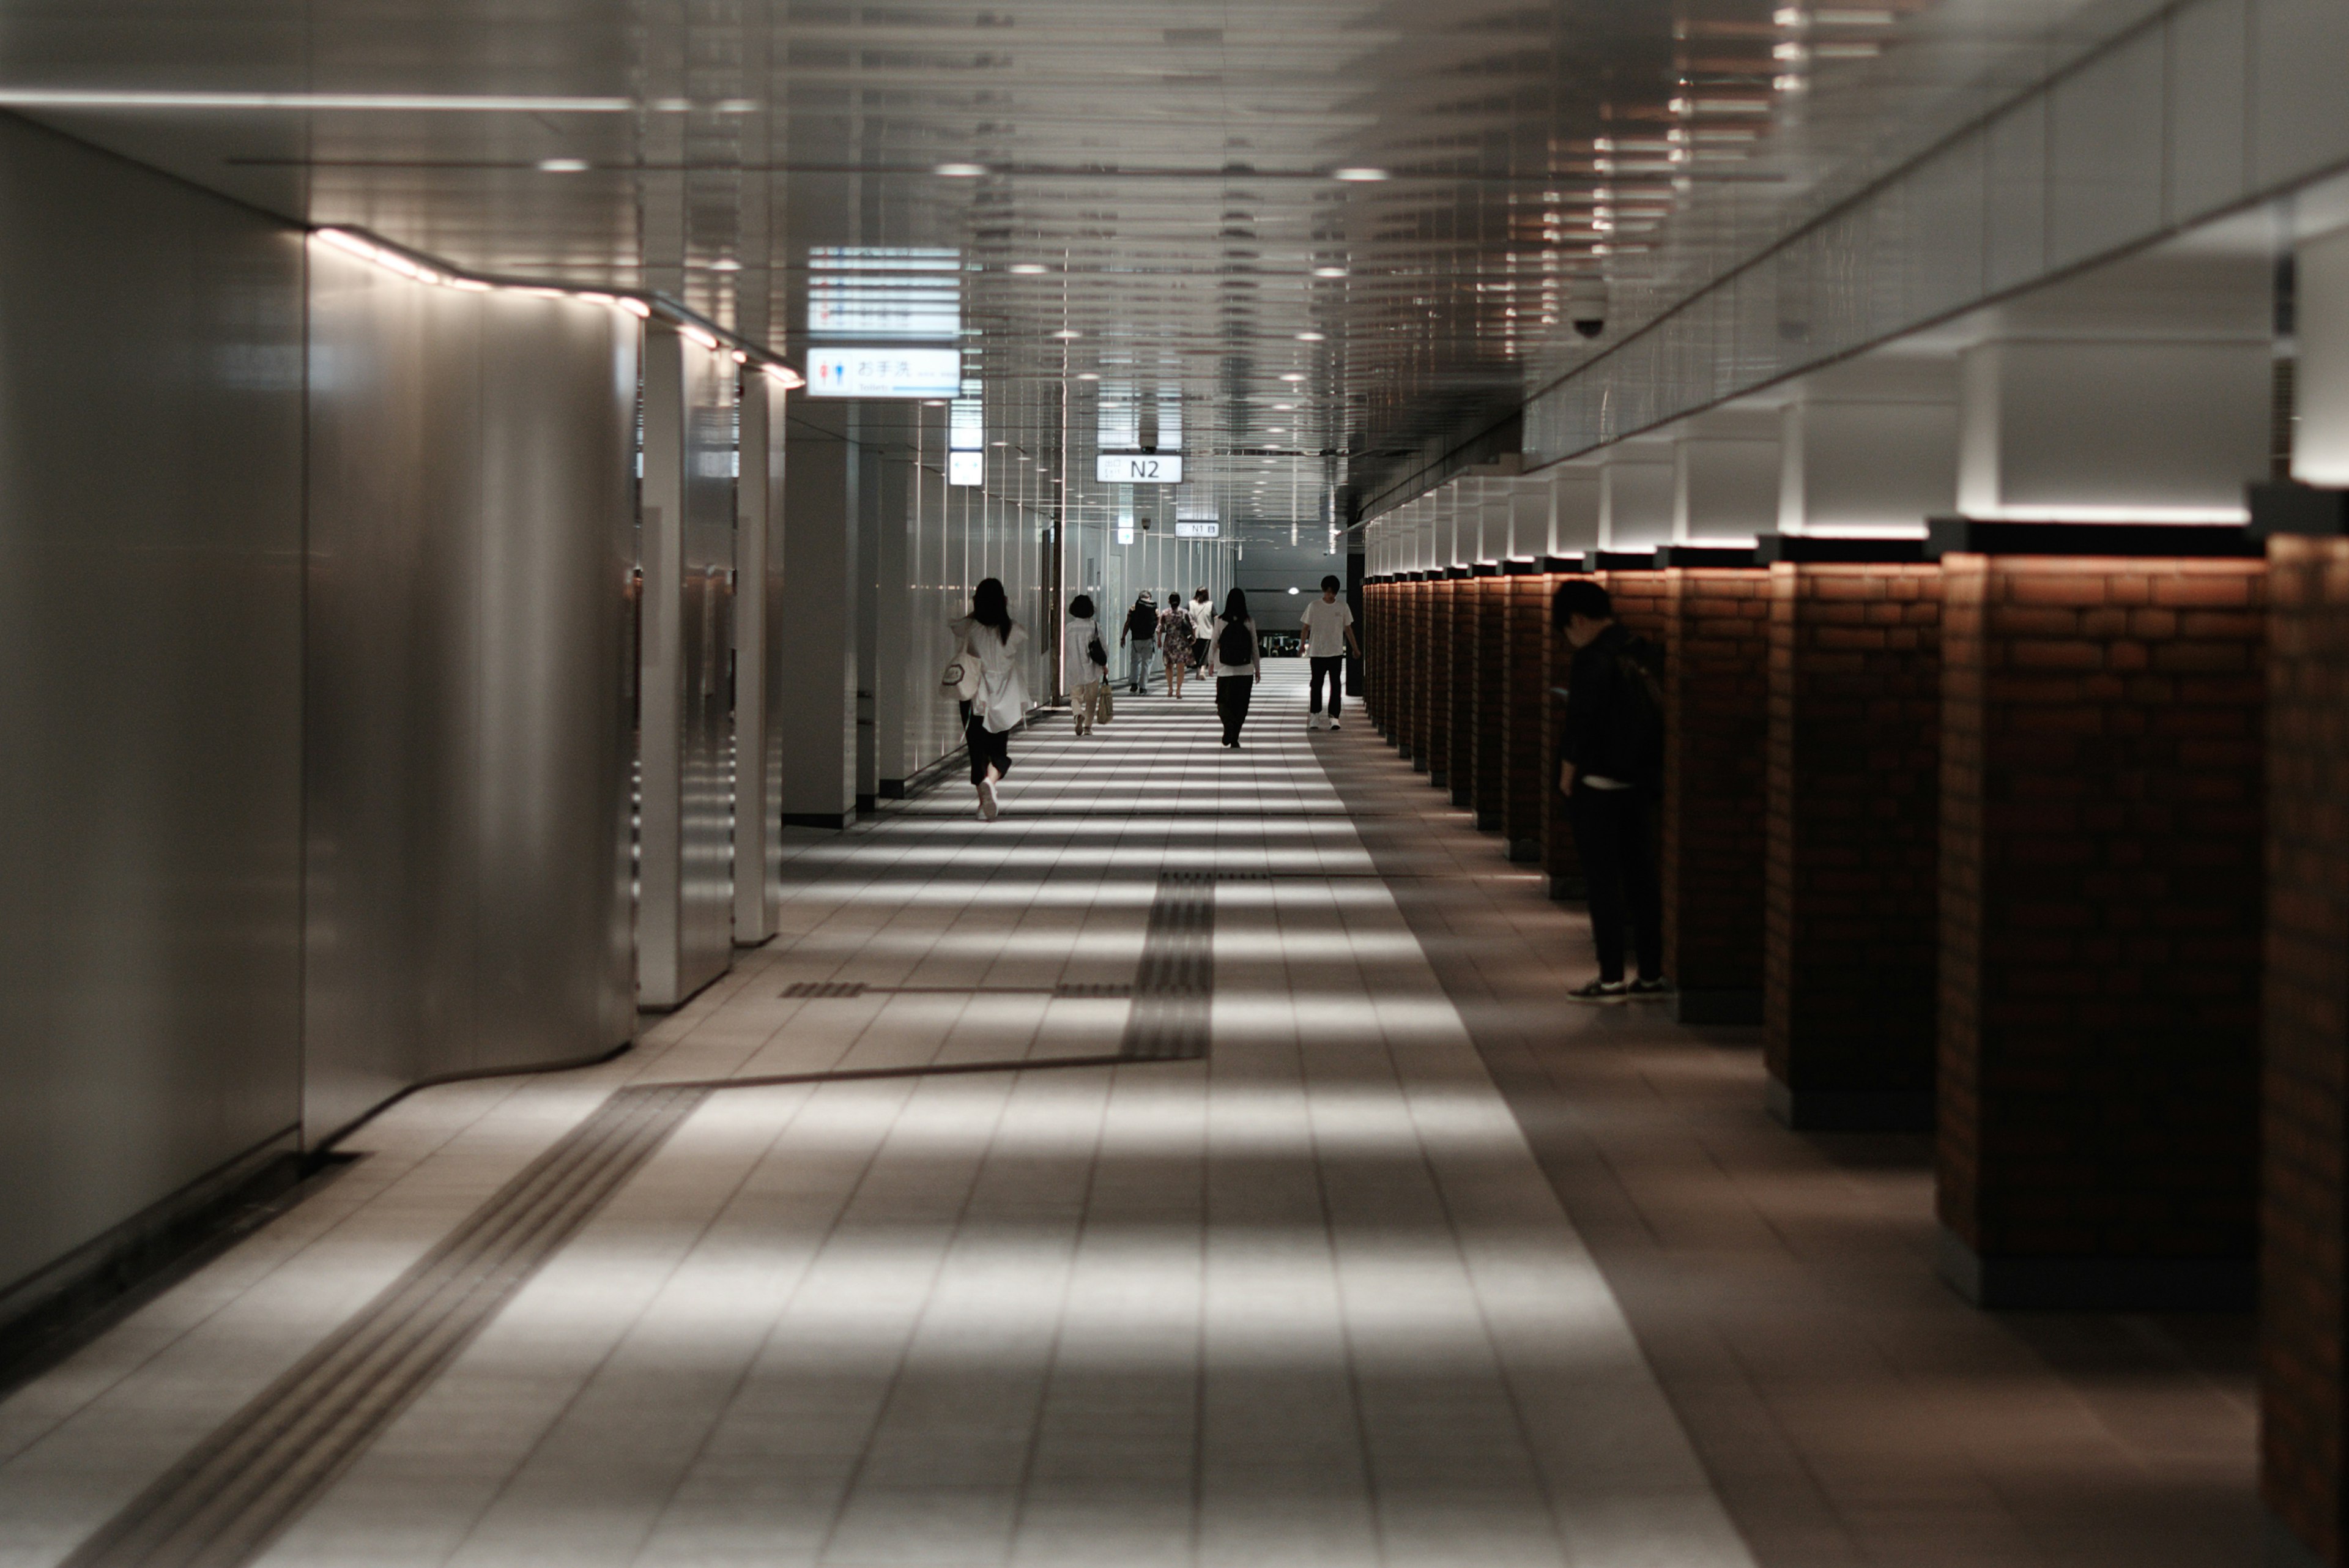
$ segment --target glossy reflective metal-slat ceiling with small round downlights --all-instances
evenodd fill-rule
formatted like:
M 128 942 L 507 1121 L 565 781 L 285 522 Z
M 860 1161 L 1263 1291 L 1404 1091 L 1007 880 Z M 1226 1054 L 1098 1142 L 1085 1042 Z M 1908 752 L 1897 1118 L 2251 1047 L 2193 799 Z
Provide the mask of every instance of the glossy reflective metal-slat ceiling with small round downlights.
M 47 0 L 0 7 L 0 103 L 794 362 L 813 247 L 951 249 L 991 395 L 1066 390 L 1076 505 L 1106 395 L 1182 409 L 1189 503 L 1285 527 L 2140 9 Z

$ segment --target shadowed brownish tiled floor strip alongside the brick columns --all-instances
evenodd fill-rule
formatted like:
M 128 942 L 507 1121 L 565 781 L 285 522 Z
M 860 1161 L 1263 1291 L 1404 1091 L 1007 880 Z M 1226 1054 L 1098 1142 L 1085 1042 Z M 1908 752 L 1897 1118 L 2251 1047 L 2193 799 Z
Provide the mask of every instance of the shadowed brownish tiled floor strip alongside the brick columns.
M 2248 1316 L 1966 1307 L 1926 1138 L 1781 1128 L 1757 1030 L 1560 1004 L 1581 914 L 1367 726 L 1315 750 L 1762 1563 L 2260 1561 Z

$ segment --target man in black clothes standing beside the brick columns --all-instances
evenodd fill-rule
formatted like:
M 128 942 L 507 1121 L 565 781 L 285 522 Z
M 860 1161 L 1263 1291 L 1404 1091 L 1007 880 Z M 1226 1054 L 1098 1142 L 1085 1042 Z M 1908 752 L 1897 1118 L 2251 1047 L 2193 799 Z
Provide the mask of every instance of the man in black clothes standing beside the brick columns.
M 1567 715 L 1557 741 L 1557 790 L 1567 797 L 1574 849 L 1590 882 L 1590 940 L 1600 978 L 1567 997 L 1630 1001 L 1663 997 L 1663 893 L 1656 884 L 1649 802 L 1663 783 L 1663 656 L 1614 618 L 1597 583 L 1567 583 L 1550 602 L 1567 632 Z M 1640 978 L 1623 978 L 1626 926 Z

